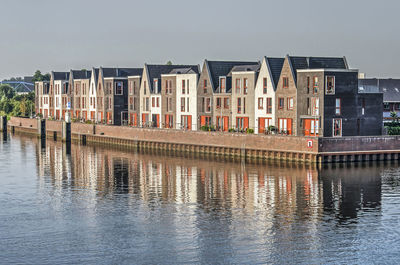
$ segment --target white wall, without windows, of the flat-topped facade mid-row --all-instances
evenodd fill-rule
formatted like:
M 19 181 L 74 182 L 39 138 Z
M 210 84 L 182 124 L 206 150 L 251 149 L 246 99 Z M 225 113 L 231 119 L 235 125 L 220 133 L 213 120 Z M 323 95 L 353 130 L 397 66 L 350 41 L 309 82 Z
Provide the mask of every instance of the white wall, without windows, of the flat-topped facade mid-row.
M 186 84 L 185 94 L 182 94 L 183 80 Z M 197 74 L 176 75 L 176 128 L 182 127 L 182 115 L 190 115 L 192 117 L 191 129 L 197 130 L 197 80 Z M 189 81 L 189 86 L 187 86 L 187 81 Z M 185 111 L 181 111 L 181 98 L 185 98 Z

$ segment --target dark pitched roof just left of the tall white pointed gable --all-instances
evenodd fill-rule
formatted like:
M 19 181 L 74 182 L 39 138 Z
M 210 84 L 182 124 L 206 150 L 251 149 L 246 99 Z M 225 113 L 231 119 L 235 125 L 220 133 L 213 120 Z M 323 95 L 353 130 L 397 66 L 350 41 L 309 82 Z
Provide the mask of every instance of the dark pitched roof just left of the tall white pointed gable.
M 219 86 L 219 77 L 228 76 L 234 66 L 239 65 L 258 65 L 259 62 L 242 62 L 242 61 L 208 61 L 205 60 L 205 67 L 207 67 L 212 89 L 215 92 Z

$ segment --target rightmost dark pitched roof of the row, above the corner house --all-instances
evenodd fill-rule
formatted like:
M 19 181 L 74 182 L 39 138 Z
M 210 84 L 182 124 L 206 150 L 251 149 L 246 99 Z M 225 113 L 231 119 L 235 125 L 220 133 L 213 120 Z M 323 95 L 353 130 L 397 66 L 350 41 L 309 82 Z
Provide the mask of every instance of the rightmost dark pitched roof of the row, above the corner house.
M 295 83 L 297 83 L 297 70 L 300 69 L 348 69 L 346 57 L 305 57 L 289 56 L 289 64 Z

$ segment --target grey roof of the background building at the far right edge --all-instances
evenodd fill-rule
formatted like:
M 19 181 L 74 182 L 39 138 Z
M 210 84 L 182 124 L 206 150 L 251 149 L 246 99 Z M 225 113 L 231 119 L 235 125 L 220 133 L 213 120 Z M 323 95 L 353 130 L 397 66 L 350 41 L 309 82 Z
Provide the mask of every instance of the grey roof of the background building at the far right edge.
M 400 102 L 400 79 L 358 79 L 361 93 L 383 93 L 383 102 Z

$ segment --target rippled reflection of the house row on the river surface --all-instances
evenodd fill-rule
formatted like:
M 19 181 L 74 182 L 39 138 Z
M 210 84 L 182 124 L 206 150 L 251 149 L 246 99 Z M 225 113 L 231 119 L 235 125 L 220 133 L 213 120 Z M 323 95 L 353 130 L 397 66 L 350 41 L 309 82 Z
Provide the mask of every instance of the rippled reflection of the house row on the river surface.
M 31 141 L 32 139 L 29 139 Z M 21 141 L 23 143 L 23 141 Z M 380 210 L 379 165 L 244 164 L 47 141 L 37 149 L 38 175 L 55 188 L 134 194 L 149 203 L 199 204 L 205 211 L 245 209 L 279 218 L 332 215 L 340 223 Z M 354 220 L 353 220 L 354 221 Z

